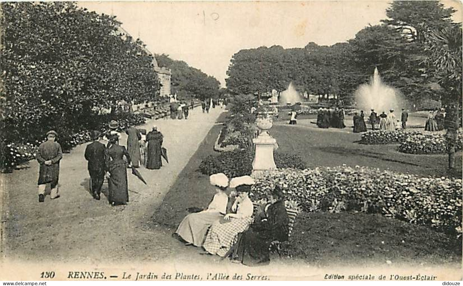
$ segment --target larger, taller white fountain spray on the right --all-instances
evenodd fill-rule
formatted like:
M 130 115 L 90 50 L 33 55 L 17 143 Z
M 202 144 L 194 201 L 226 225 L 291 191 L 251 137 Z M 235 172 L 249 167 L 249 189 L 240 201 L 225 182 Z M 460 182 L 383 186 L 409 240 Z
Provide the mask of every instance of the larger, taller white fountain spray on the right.
M 374 109 L 378 114 L 382 111 L 399 107 L 399 94 L 396 90 L 382 83 L 378 69 L 375 67 L 373 77 L 368 84 L 360 85 L 355 92 L 357 108 L 361 110 Z

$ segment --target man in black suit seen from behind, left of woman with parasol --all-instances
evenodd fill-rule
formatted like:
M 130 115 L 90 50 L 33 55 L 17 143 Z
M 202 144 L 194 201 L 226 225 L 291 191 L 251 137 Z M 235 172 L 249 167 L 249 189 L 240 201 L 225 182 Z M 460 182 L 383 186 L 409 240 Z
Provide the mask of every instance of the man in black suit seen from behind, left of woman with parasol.
M 106 146 L 99 142 L 100 132 L 92 131 L 90 135 L 94 141 L 87 145 L 84 156 L 88 161 L 92 195 L 95 200 L 100 200 L 101 186 L 103 185 L 106 172 Z

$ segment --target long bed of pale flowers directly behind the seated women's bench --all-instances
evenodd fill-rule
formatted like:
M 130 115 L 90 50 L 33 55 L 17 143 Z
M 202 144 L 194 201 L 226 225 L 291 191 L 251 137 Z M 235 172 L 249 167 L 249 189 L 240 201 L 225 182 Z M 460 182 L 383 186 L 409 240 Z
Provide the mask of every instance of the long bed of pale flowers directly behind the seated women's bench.
M 279 184 L 305 212 L 379 213 L 461 237 L 461 179 L 427 178 L 367 167 L 281 169 L 255 176 L 252 199 Z

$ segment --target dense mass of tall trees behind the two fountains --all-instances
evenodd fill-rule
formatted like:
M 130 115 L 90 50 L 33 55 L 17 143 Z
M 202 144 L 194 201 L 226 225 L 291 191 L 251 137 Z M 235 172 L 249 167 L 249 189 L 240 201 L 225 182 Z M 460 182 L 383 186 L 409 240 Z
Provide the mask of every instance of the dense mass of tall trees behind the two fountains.
M 394 1 L 388 19 L 358 31 L 348 43 L 243 49 L 232 57 L 227 87 L 261 93 L 283 91 L 293 82 L 298 91 L 337 95 L 345 104 L 377 67 L 383 81 L 413 103 L 444 100 L 453 97 L 452 86 L 461 90 L 461 76 L 454 75 L 462 70 L 461 30 L 451 21 L 453 12 L 439 1 Z

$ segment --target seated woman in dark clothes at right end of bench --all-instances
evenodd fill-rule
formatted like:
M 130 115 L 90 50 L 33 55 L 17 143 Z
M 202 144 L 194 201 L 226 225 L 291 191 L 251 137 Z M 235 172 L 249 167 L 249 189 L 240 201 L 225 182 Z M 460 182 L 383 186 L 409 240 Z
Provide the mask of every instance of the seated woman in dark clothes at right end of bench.
M 280 188 L 275 187 L 262 213 L 257 214 L 249 229 L 238 236 L 232 261 L 248 266 L 267 264 L 270 261 L 270 243 L 288 240 L 288 222 L 284 195 Z

